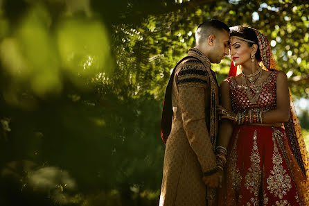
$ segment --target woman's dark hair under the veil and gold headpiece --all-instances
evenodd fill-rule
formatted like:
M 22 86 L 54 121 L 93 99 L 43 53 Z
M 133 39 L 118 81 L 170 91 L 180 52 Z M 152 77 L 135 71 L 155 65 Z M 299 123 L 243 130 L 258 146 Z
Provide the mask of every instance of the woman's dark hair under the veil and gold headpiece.
M 253 28 L 250 26 L 233 26 L 230 27 L 230 35 L 231 37 L 236 36 L 236 37 L 242 37 L 246 40 L 253 41 L 255 43 L 247 42 L 247 44 L 251 47 L 253 44 L 258 45 L 258 37 L 256 37 L 256 32 L 254 31 Z M 256 60 L 258 62 L 261 62 L 261 53 L 260 53 L 260 46 L 258 45 L 258 50 L 256 51 Z

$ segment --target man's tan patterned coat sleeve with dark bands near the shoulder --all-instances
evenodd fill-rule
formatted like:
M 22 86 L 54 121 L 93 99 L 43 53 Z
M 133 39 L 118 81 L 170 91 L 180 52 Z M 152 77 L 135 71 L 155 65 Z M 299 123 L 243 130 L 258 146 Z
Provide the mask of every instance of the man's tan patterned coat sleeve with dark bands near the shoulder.
M 183 127 L 204 175 L 211 175 L 217 171 L 217 163 L 205 121 L 205 108 L 209 103 L 205 101 L 206 89 L 210 87 L 209 76 L 202 64 L 190 67 L 184 63 L 181 67 L 177 73 L 177 89 Z

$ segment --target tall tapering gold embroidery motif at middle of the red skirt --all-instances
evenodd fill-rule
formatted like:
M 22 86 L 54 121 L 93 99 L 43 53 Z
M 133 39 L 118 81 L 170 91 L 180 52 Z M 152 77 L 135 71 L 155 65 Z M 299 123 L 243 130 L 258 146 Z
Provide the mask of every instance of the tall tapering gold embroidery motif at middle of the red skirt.
M 249 189 L 249 191 L 255 196 L 254 198 L 251 198 L 251 203 L 253 203 L 253 205 L 258 205 L 258 189 L 261 184 L 261 168 L 259 164 L 261 162 L 261 157 L 260 153 L 258 153 L 257 138 L 256 130 L 254 130 L 254 142 L 250 155 L 251 167 L 245 176 L 245 187 L 247 187 L 247 189 Z

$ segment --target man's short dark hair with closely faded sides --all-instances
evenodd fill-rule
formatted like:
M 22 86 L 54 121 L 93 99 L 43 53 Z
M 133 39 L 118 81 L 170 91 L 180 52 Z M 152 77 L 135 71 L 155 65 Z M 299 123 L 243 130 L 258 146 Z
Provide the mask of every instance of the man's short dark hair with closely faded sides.
M 222 32 L 224 30 L 228 33 L 230 32 L 229 26 L 227 26 L 227 24 L 224 24 L 217 19 L 208 19 L 197 27 L 195 31 L 195 39 L 198 39 L 199 41 L 204 41 L 210 35 L 215 35 L 216 33 Z M 197 38 L 197 36 L 199 38 Z

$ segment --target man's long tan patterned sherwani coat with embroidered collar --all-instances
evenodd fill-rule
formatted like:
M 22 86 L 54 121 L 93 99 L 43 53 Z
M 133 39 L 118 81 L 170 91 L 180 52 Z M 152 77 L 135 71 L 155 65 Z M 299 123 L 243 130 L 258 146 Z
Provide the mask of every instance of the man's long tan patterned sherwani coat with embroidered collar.
M 218 84 L 211 62 L 197 49 L 175 68 L 173 123 L 166 141 L 160 205 L 206 206 L 203 174 L 216 171 Z

